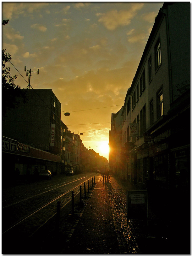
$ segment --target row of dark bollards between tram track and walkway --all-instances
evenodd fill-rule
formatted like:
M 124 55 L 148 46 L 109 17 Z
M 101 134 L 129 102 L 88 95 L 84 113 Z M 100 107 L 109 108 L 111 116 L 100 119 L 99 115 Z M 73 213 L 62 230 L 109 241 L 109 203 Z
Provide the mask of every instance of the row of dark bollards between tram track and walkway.
M 91 182 L 91 186 L 90 185 Z M 94 183 L 93 183 L 93 177 L 88 181 L 88 193 L 90 192 L 90 189 L 93 188 L 95 185 L 95 176 L 94 176 Z M 84 182 L 84 198 L 86 198 L 86 186 Z M 80 205 L 84 205 L 82 202 L 82 186 L 80 185 Z M 59 231 L 59 218 L 60 218 L 60 209 L 61 209 L 61 201 L 57 202 L 57 213 L 56 213 L 56 232 Z M 72 211 L 72 216 L 74 216 L 74 191 L 71 191 L 71 211 Z

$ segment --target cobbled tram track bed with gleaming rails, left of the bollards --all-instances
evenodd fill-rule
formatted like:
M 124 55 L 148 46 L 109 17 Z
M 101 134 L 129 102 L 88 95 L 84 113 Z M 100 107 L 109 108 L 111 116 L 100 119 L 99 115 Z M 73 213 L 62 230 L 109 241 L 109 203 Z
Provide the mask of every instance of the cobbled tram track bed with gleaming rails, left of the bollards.
M 87 177 L 89 178 L 87 179 Z M 66 184 L 60 183 L 60 186 L 57 186 L 56 188 L 49 189 L 4 206 L 2 208 L 2 219 L 5 217 L 6 212 L 14 212 L 14 215 L 11 214 L 10 216 L 10 214 L 8 214 L 6 217 L 7 221 L 2 224 L 2 235 L 10 233 L 15 234 L 18 233 L 18 230 L 22 230 L 22 233 L 27 236 L 35 233 L 39 227 L 44 225 L 44 223 L 47 223 L 47 221 L 56 214 L 55 201 L 60 199 L 61 208 L 65 207 L 71 201 L 70 192 L 74 191 L 74 197 L 76 197 L 79 194 L 80 185 L 84 182 L 88 183 L 90 178 L 91 176 L 83 176 L 68 183 L 65 182 Z M 71 186 L 74 182 L 74 186 Z M 63 188 L 65 188 L 64 192 Z M 11 218 L 9 218 L 9 216 Z

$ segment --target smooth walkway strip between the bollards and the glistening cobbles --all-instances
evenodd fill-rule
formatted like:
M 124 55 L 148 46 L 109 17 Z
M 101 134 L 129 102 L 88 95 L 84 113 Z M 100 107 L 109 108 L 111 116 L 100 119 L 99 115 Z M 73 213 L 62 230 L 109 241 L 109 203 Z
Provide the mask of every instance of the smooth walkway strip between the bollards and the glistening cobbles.
M 102 176 L 96 176 L 91 198 L 69 238 L 65 254 L 120 254 L 107 193 Z

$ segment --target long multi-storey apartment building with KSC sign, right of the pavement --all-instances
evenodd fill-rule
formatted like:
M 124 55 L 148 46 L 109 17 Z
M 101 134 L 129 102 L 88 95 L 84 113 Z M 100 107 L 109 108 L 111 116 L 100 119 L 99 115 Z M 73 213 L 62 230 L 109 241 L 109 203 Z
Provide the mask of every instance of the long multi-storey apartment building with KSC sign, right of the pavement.
M 189 120 L 190 3 L 165 2 L 124 100 L 123 177 L 141 188 L 186 188 Z

